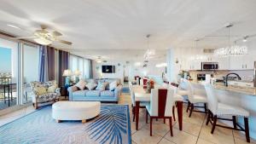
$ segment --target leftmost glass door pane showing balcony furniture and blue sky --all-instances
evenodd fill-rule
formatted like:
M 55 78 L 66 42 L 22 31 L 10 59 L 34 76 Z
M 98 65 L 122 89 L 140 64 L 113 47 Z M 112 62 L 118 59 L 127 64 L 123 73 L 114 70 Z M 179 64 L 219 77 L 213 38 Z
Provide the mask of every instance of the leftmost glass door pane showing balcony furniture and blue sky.
M 18 43 L 0 38 L 0 110 L 18 104 Z

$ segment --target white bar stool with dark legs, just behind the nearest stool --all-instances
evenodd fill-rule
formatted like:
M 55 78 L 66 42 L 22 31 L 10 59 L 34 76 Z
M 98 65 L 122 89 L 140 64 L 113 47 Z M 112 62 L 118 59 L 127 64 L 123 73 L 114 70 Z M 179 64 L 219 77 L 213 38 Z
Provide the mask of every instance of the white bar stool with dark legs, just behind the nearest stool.
M 189 90 L 189 101 L 188 101 L 188 107 L 187 112 L 189 112 L 189 118 L 192 115 L 192 112 L 204 112 L 207 113 L 207 95 L 199 95 L 195 94 L 195 89 L 193 85 L 189 82 L 187 79 L 183 79 L 183 82 L 187 84 L 188 90 Z M 203 107 L 201 106 L 195 106 L 198 104 L 204 104 Z M 204 111 L 195 110 L 195 108 L 204 108 Z

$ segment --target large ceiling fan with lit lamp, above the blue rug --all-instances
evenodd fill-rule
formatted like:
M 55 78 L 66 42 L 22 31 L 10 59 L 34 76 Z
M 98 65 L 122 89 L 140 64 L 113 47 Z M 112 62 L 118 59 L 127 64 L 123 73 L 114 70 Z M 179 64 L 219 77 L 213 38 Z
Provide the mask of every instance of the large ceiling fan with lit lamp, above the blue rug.
M 61 40 L 59 37 L 61 37 L 61 32 L 48 32 L 47 26 L 41 25 L 41 29 L 36 30 L 33 32 L 32 37 L 14 37 L 13 39 L 33 39 L 36 43 L 42 44 L 42 45 L 49 45 L 53 42 L 59 42 L 64 43 L 67 45 L 72 45 L 71 42 Z

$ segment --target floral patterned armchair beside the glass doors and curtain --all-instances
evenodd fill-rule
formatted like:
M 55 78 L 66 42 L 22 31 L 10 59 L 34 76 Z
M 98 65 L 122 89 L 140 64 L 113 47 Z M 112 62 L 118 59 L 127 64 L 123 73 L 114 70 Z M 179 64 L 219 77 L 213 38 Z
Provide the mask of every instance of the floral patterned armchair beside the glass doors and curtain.
M 33 107 L 38 109 L 38 104 L 54 103 L 59 100 L 61 89 L 57 87 L 56 81 L 31 82 Z

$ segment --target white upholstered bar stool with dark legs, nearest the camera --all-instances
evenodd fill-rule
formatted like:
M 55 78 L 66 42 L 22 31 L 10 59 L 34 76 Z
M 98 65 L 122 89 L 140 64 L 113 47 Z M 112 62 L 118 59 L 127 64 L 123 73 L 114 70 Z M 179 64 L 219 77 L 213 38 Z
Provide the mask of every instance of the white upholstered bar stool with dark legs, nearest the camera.
M 211 133 L 213 134 L 216 126 L 226 128 L 226 129 L 240 130 L 245 132 L 247 142 L 250 142 L 249 124 L 248 124 L 249 112 L 247 112 L 247 110 L 243 109 L 242 107 L 236 107 L 229 104 L 218 102 L 218 96 L 215 95 L 214 89 L 212 88 L 211 84 L 206 84 L 205 89 L 207 91 L 207 100 L 208 100 L 207 125 L 209 124 L 209 122 L 212 124 Z M 220 118 L 222 116 L 232 116 L 232 119 Z M 236 117 L 244 118 L 244 128 L 242 128 L 240 124 L 236 123 Z M 229 126 L 217 124 L 218 119 L 233 121 L 233 128 Z

